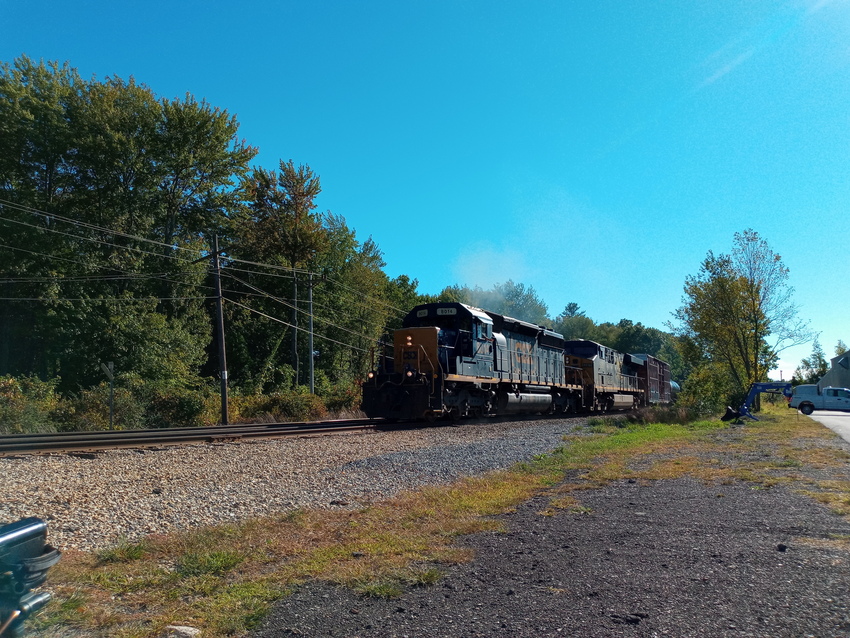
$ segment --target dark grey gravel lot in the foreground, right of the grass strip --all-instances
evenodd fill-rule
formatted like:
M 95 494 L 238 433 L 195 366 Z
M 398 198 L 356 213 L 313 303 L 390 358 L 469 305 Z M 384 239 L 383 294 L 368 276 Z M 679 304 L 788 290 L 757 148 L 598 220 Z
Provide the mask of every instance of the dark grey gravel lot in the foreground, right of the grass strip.
M 850 523 L 836 493 L 850 446 L 822 434 L 777 447 L 738 428 L 703 450 L 714 466 L 754 468 L 751 480 L 627 469 L 564 508 L 556 488 L 500 517 L 503 531 L 463 538 L 475 558 L 435 585 L 384 600 L 309 584 L 255 635 L 848 636 Z

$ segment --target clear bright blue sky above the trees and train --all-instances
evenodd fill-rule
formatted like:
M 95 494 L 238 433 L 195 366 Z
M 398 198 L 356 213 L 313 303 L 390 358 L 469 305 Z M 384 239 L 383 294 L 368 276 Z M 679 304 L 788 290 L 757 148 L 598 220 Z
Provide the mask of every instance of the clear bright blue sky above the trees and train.
M 0 59 L 236 114 L 257 163 L 420 292 L 513 279 L 658 328 L 757 230 L 827 355 L 847 324 L 850 4 L 0 0 Z M 806 345 L 787 351 L 793 372 Z

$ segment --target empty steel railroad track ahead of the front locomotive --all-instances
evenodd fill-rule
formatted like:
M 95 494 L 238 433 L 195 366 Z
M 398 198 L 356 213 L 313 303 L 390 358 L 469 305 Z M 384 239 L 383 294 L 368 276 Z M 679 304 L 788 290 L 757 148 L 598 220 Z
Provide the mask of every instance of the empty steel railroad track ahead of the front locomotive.
M 47 452 L 92 452 L 115 448 L 160 447 L 186 443 L 212 443 L 271 439 L 284 436 L 337 434 L 374 430 L 388 425 L 383 419 L 347 419 L 318 423 L 251 423 L 157 430 L 105 430 L 0 436 L 0 456 Z

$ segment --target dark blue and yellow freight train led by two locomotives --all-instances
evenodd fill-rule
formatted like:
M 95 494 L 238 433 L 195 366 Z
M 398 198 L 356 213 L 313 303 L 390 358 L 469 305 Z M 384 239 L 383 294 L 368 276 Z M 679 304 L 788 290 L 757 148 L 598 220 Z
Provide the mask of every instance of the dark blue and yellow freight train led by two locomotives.
M 671 402 L 670 366 L 473 306 L 416 306 L 362 384 L 370 418 L 578 414 Z

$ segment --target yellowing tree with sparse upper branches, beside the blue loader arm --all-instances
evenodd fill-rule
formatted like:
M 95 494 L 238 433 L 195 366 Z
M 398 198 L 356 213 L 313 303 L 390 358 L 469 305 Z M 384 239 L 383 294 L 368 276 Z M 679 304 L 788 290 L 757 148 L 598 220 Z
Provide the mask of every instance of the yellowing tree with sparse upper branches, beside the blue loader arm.
M 700 361 L 720 364 L 738 393 L 767 379 L 778 353 L 811 340 L 797 317 L 788 268 L 751 229 L 735 233 L 732 253 L 709 251 L 685 280 L 676 334 L 696 346 Z

